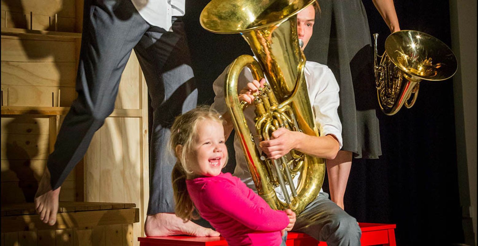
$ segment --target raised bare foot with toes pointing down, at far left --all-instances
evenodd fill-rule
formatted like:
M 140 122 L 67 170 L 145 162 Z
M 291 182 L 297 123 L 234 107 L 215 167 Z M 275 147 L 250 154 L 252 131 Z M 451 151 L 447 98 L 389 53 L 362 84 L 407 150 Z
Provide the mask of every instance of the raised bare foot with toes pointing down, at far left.
M 35 210 L 40 214 L 40 220 L 45 224 L 54 225 L 56 223 L 60 189 L 61 187 L 52 190 L 50 172 L 48 168 L 45 167 L 43 177 L 38 184 L 38 190 L 35 194 Z

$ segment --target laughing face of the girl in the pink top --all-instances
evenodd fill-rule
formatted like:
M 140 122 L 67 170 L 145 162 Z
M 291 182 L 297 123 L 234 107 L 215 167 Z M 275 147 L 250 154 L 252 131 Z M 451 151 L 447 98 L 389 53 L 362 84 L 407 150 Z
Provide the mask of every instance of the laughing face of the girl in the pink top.
M 207 119 L 198 122 L 194 141 L 186 165 L 195 175 L 219 175 L 228 158 L 222 124 Z

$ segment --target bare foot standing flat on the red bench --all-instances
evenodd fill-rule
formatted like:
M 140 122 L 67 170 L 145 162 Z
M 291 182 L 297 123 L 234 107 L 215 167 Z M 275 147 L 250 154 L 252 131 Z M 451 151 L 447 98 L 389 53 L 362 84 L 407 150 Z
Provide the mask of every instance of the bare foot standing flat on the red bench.
M 156 213 L 148 215 L 144 223 L 144 234 L 146 236 L 219 236 L 220 234 L 212 229 L 202 227 L 188 221 L 186 223 L 174 213 Z

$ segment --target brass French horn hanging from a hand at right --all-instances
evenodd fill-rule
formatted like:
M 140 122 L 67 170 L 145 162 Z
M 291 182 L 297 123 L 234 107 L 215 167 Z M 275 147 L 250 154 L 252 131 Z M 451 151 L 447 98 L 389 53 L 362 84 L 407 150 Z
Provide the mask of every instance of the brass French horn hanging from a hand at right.
M 392 33 L 385 40 L 382 56 L 377 54 L 379 34 L 373 36 L 375 86 L 380 108 L 387 115 L 397 113 L 403 104 L 413 106 L 422 79 L 445 80 L 456 72 L 451 49 L 429 34 L 410 30 Z

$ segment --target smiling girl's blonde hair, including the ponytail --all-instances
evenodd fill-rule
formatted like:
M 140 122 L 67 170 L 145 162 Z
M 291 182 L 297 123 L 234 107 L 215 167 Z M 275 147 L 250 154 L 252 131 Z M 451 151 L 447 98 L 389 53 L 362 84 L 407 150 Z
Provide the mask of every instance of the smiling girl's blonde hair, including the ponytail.
M 195 143 L 197 124 L 203 120 L 212 120 L 222 124 L 222 118 L 219 113 L 209 106 L 199 106 L 189 112 L 178 116 L 171 128 L 171 138 L 169 146 L 177 158 L 171 173 L 174 190 L 174 212 L 176 216 L 182 218 L 184 222 L 190 219 L 198 219 L 196 207 L 189 197 L 186 189 L 186 174 L 192 174 L 186 165 L 186 156 Z M 180 153 L 176 152 L 176 146 L 181 145 Z

